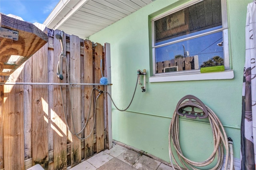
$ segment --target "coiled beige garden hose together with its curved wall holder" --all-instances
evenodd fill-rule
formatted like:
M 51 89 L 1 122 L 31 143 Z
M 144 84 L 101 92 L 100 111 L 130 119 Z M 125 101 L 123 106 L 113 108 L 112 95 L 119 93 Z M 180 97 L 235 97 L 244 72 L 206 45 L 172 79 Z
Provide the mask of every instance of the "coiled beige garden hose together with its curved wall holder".
M 200 110 L 200 111 L 198 111 Z M 212 154 L 204 161 L 195 162 L 186 158 L 183 155 L 182 149 L 180 148 L 180 125 L 179 116 L 186 116 L 187 118 L 196 119 L 197 117 L 208 118 L 210 126 L 212 128 L 212 138 L 214 144 Z M 174 156 L 174 150 L 176 151 L 176 156 Z M 224 151 L 226 150 L 226 155 Z M 224 156 L 226 160 L 224 162 Z M 212 166 L 208 170 L 220 170 L 224 165 L 224 170 L 233 170 L 233 148 L 232 141 L 228 141 L 228 137 L 224 130 L 223 125 L 217 115 L 204 103 L 193 95 L 187 95 L 180 99 L 176 106 L 176 110 L 172 116 L 172 120 L 169 126 L 169 157 L 170 163 L 174 170 L 174 164 L 176 164 L 175 169 L 183 170 L 200 170 L 199 167 Z M 177 162 L 177 159 L 180 162 Z M 216 162 L 214 162 L 216 160 Z M 230 168 L 228 168 L 228 162 L 230 162 Z M 181 167 L 182 166 L 182 167 Z

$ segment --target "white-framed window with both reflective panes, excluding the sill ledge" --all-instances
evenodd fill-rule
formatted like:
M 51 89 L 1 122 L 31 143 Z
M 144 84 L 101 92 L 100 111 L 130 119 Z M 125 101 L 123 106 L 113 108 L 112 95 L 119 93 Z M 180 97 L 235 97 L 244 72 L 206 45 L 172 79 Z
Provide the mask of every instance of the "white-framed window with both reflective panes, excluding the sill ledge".
M 198 0 L 152 18 L 153 76 L 230 69 L 225 0 Z

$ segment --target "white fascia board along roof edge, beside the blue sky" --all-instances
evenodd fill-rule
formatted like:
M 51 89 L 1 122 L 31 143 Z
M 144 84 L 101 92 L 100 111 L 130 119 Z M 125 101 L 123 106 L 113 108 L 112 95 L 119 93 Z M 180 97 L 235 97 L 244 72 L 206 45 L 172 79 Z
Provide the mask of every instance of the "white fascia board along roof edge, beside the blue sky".
M 50 15 L 44 21 L 44 25 L 50 29 L 58 29 L 76 11 L 78 11 L 88 0 L 60 0 Z

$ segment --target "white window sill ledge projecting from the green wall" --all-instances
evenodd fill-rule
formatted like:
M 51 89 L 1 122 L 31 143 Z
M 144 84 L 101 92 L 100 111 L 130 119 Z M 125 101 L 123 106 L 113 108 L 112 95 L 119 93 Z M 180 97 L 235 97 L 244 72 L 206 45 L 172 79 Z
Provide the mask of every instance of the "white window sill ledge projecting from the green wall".
M 223 72 L 211 72 L 211 73 L 188 73 L 178 75 L 162 75 L 151 76 L 149 82 L 176 82 L 176 81 L 190 81 L 190 80 L 222 80 L 233 79 L 234 70 L 226 70 Z

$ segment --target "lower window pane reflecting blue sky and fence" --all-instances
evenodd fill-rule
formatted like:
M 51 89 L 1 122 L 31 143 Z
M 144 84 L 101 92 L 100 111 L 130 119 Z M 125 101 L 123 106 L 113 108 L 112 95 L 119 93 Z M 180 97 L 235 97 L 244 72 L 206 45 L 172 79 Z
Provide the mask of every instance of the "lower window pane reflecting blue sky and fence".
M 155 51 L 156 73 L 166 72 L 164 68 L 174 66 L 177 66 L 177 71 L 183 71 L 223 65 L 221 42 L 222 32 L 217 32 L 158 47 Z M 220 59 L 216 60 L 217 58 Z M 163 67 L 162 64 L 164 65 Z

